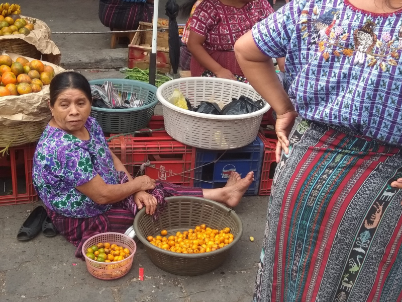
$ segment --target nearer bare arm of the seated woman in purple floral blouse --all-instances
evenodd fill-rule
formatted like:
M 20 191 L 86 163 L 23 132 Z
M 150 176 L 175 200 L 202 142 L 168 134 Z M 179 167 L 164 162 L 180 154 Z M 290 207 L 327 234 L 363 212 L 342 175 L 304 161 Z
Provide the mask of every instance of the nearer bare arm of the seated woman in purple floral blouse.
M 144 175 L 124 184 L 109 185 L 97 174 L 90 181 L 75 188 L 98 204 L 110 204 L 119 202 L 136 192 L 154 189 L 155 180 Z

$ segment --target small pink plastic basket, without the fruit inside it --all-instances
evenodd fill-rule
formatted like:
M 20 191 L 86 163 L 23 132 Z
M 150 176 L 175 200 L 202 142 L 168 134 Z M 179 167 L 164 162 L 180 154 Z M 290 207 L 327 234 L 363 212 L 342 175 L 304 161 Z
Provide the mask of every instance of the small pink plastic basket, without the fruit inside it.
M 98 244 L 99 242 L 109 242 L 111 245 L 117 244 L 118 246 L 128 248 L 130 250 L 130 256 L 122 261 L 111 263 L 97 262 L 86 257 L 86 249 Z M 85 257 L 88 272 L 92 276 L 102 280 L 118 279 L 126 275 L 131 269 L 136 250 L 137 245 L 135 244 L 134 240 L 120 233 L 103 233 L 92 236 L 85 241 L 84 245 L 82 246 L 82 254 Z

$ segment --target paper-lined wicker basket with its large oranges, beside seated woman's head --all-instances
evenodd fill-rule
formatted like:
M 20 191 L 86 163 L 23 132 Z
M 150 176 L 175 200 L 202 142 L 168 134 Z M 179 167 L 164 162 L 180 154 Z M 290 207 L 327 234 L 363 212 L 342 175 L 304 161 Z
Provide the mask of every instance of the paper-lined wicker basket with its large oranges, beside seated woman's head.
M 51 118 L 49 84 L 63 71 L 49 62 L 0 54 L 0 153 L 40 138 Z

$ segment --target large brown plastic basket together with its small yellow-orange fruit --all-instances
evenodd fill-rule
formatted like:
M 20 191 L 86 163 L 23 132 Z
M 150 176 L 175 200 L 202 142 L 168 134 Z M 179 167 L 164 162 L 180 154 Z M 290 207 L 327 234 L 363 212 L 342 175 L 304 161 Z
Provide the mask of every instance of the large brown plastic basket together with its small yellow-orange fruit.
M 141 209 L 134 231 L 159 268 L 196 276 L 218 268 L 240 240 L 243 224 L 235 211 L 205 198 L 175 196 L 154 221 Z

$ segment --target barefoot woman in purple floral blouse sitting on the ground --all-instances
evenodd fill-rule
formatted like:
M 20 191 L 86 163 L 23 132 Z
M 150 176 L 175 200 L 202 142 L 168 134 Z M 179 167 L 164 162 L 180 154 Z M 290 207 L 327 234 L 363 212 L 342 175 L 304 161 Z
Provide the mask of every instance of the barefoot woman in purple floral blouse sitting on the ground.
M 86 239 L 104 232 L 125 231 L 144 206 L 154 214 L 164 197 L 205 197 L 236 206 L 253 181 L 234 174 L 226 187 L 201 189 L 132 178 L 111 152 L 99 124 L 89 117 L 91 90 L 83 75 L 63 72 L 50 84 L 52 120 L 36 147 L 33 182 L 57 230 L 77 247 L 83 259 Z

